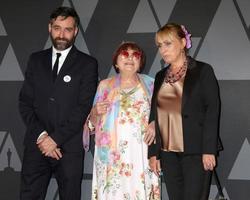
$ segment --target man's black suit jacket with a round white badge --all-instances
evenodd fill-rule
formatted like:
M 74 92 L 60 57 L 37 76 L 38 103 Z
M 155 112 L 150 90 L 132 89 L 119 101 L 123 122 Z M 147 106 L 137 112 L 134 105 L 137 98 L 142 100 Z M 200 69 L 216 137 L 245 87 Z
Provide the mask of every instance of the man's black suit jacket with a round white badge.
M 72 47 L 52 81 L 52 48 L 33 53 L 19 95 L 27 127 L 24 144 L 37 148 L 47 131 L 63 151 L 82 150 L 82 126 L 92 106 L 98 81 L 97 61 Z

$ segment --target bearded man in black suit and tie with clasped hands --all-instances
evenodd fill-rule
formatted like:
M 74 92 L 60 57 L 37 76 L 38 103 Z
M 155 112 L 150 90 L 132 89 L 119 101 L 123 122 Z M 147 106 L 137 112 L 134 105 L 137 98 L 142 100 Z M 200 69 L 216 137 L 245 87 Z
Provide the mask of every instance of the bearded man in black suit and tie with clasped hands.
M 21 200 L 46 196 L 52 174 L 62 200 L 81 196 L 82 126 L 96 92 L 97 61 L 74 46 L 79 17 L 59 7 L 50 16 L 53 47 L 33 53 L 20 92 L 27 131 L 21 172 Z

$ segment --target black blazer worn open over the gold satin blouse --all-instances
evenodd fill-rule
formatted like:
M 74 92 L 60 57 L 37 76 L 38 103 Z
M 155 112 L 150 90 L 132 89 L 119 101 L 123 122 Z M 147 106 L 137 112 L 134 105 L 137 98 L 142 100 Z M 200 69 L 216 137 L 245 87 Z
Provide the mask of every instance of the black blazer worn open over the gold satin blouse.
M 220 96 L 214 71 L 207 63 L 188 58 L 188 68 L 183 85 L 182 128 L 185 154 L 216 154 Z M 157 120 L 157 96 L 166 68 L 156 74 L 149 122 L 155 120 L 156 140 L 149 146 L 148 157 L 160 157 L 161 135 Z

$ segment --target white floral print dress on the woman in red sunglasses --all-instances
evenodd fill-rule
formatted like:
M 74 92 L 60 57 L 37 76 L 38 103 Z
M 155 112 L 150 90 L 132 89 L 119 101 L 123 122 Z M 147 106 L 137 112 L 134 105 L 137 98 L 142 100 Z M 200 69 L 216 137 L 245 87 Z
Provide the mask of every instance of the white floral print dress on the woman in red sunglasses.
M 160 199 L 159 180 L 149 171 L 147 145 L 143 142 L 150 112 L 145 80 L 129 90 L 110 87 L 115 80 L 102 81 L 95 99 L 108 99 L 112 104 L 96 126 L 92 199 Z M 105 94 L 105 88 L 112 89 Z

